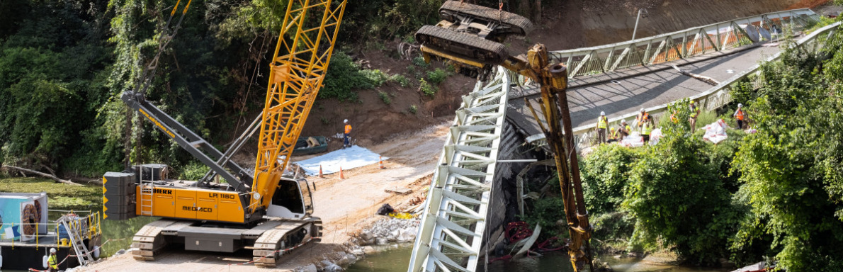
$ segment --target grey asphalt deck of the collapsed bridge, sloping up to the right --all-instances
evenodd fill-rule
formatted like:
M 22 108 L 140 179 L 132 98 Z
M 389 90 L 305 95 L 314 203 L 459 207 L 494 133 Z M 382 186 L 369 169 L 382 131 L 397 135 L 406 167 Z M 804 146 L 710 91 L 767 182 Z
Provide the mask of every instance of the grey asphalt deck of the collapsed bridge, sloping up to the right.
M 567 90 L 572 126 L 597 121 L 600 111 L 609 119 L 626 115 L 640 108 L 673 102 L 705 92 L 712 86 L 677 72 L 675 64 L 696 74 L 725 81 L 754 66 L 758 61 L 779 51 L 775 44 L 765 44 L 728 52 L 716 52 L 690 60 L 672 61 L 664 65 L 636 67 L 593 77 L 576 77 Z M 729 71 L 731 70 L 731 72 Z M 513 88 L 509 99 L 507 119 L 524 131 L 525 136 L 540 134 L 539 126 L 524 104 L 524 98 L 540 109 L 540 93 L 534 85 Z

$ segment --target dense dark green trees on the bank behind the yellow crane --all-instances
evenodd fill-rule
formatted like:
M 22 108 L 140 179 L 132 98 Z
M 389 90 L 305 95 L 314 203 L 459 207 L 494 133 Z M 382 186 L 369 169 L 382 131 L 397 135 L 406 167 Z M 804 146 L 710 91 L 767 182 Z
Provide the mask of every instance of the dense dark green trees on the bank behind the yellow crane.
M 191 157 L 147 121 L 128 115 L 119 99 L 123 91 L 136 88 L 142 67 L 158 51 L 158 37 L 175 3 L 0 3 L 0 163 L 98 176 L 122 168 L 128 137 L 131 163 L 168 163 L 192 176 Z M 208 141 L 230 141 L 263 105 L 267 57 L 287 3 L 191 3 L 158 62 L 147 99 Z M 409 39 L 421 24 L 438 20 L 440 4 L 349 3 L 319 98 L 356 100 L 357 90 L 387 82 L 415 85 L 421 77 L 362 69 L 340 48 L 353 51 L 394 37 Z M 177 13 L 170 25 L 179 19 Z

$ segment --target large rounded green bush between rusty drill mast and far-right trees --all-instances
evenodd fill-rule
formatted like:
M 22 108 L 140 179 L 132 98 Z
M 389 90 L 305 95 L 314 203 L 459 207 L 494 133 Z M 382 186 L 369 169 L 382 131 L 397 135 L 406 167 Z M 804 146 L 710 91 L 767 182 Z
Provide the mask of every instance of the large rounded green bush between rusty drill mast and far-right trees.
M 687 122 L 685 122 L 687 123 Z M 742 209 L 721 179 L 721 165 L 706 154 L 709 144 L 668 129 L 658 145 L 642 150 L 631 165 L 621 207 L 636 217 L 631 245 L 672 247 L 696 264 L 729 256 Z

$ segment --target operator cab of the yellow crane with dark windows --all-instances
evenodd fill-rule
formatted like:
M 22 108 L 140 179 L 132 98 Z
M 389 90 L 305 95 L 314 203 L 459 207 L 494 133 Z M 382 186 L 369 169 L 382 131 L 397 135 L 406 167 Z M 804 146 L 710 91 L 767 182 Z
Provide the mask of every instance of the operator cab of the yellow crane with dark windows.
M 312 188 L 307 179 L 284 175 L 266 208 L 266 216 L 301 219 L 314 212 Z

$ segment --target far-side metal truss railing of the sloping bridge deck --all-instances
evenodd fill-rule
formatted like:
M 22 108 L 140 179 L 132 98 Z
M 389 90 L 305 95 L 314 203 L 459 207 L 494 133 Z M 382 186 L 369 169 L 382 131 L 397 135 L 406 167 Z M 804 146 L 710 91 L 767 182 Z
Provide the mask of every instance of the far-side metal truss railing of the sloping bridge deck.
M 650 66 L 722 51 L 764 40 L 775 40 L 785 29 L 793 33 L 819 21 L 808 8 L 765 13 L 717 24 L 679 30 L 663 35 L 565 51 L 552 51 L 552 62 L 565 63 L 568 77 Z

